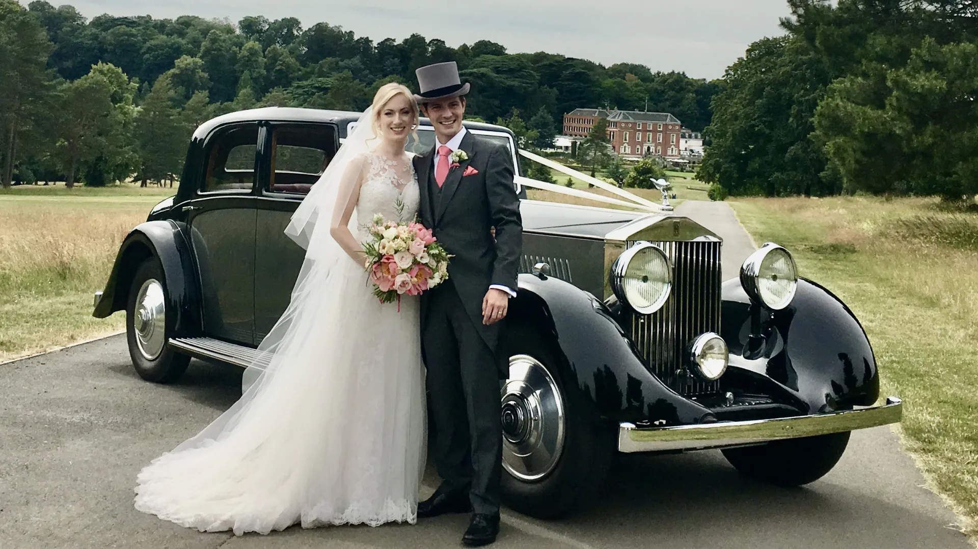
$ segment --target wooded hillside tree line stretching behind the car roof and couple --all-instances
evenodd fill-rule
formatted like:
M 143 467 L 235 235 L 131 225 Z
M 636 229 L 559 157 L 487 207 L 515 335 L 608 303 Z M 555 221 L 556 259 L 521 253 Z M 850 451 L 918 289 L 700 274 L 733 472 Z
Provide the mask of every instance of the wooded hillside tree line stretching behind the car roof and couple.
M 0 183 L 172 181 L 208 118 L 253 106 L 362 110 L 382 84 L 415 88 L 417 67 L 447 61 L 472 84 L 468 114 L 504 122 L 539 148 L 577 107 L 647 103 L 701 130 L 722 86 L 641 64 L 509 54 L 486 40 L 374 42 L 294 18 L 86 21 L 69 5 L 0 0 Z

